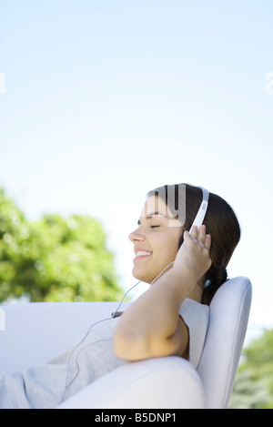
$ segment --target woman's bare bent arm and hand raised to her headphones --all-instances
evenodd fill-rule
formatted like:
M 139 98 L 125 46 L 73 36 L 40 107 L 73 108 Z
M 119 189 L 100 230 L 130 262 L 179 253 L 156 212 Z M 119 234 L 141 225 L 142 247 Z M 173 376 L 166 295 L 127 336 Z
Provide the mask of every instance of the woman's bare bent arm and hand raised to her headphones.
M 206 228 L 186 231 L 172 269 L 159 278 L 121 316 L 114 335 L 116 356 L 137 361 L 168 355 L 183 356 L 188 331 L 179 309 L 210 267 L 210 237 Z

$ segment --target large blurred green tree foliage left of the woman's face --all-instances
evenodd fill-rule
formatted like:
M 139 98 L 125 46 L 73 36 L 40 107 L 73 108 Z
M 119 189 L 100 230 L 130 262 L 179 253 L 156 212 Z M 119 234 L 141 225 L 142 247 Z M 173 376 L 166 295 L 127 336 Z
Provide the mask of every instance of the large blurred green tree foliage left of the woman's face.
M 89 216 L 29 222 L 0 188 L 0 301 L 119 300 L 113 255 Z

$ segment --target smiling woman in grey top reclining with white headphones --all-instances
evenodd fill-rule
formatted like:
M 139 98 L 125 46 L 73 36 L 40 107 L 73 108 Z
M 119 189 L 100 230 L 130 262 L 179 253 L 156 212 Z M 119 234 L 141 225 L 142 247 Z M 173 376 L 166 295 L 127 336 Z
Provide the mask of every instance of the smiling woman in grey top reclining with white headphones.
M 13 375 L 0 372 L 0 408 L 55 408 L 129 361 L 177 355 L 197 367 L 207 305 L 227 280 L 240 237 L 232 208 L 212 193 L 203 225 L 192 227 L 202 200 L 201 188 L 185 184 L 148 193 L 129 239 L 133 275 L 150 288 L 120 317 L 91 325 L 82 341 L 53 361 Z

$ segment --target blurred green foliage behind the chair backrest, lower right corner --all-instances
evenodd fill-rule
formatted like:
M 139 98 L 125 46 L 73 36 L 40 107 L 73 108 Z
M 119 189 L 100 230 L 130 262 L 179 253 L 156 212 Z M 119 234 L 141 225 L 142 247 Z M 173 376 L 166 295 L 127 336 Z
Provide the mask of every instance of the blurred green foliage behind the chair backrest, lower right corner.
M 230 408 L 273 409 L 273 330 L 244 349 Z

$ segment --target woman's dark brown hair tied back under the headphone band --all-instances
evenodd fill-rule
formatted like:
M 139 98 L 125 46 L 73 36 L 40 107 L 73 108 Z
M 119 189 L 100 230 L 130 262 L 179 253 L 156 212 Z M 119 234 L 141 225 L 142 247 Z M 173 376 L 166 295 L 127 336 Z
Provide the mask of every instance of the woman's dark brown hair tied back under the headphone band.
M 179 186 L 186 187 L 186 193 L 184 192 L 186 198 L 178 198 L 179 191 L 177 191 L 177 188 Z M 202 189 L 189 184 L 163 186 L 149 191 L 147 196 L 155 194 L 163 198 L 169 208 L 176 207 L 178 211 L 179 209 L 184 209 L 185 211 L 186 206 L 186 212 L 181 211 L 179 218 L 185 218 L 183 214 L 186 213 L 183 231 L 189 230 L 203 199 Z M 170 200 L 168 195 L 175 195 L 175 200 Z M 184 206 L 181 206 L 182 204 Z M 173 214 L 176 215 L 177 212 Z M 211 236 L 210 258 L 212 264 L 204 276 L 202 300 L 204 304 L 208 305 L 217 289 L 227 281 L 227 264 L 238 245 L 240 226 L 234 210 L 226 200 L 214 193 L 209 193 L 207 213 L 203 223 L 206 225 L 207 233 Z M 178 249 L 182 243 L 183 234 L 179 240 Z

